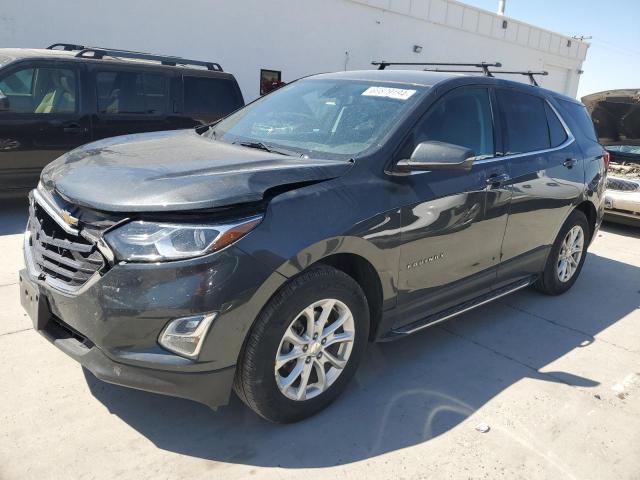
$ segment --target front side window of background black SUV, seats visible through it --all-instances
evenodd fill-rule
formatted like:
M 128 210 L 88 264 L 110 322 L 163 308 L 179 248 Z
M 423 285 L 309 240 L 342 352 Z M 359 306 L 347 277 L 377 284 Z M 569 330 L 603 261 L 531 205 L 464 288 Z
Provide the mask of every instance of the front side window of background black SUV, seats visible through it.
M 0 78 L 0 92 L 13 113 L 76 111 L 76 73 L 67 68 L 27 67 Z

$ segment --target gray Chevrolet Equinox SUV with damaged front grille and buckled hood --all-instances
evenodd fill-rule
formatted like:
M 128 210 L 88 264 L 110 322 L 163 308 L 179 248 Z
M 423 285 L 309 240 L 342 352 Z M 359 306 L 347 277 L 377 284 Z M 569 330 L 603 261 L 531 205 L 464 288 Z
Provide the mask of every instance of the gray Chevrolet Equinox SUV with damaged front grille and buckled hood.
M 607 158 L 585 107 L 508 80 L 352 71 L 196 130 L 73 150 L 30 195 L 22 304 L 106 382 L 275 422 L 393 340 L 575 283 Z

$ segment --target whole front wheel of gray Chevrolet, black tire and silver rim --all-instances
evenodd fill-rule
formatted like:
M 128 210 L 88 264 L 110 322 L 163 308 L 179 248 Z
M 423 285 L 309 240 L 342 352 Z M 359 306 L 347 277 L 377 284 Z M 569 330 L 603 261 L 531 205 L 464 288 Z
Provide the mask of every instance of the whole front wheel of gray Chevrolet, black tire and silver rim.
M 329 266 L 298 275 L 267 303 L 240 354 L 234 389 L 277 423 L 327 407 L 353 377 L 369 336 L 364 292 Z

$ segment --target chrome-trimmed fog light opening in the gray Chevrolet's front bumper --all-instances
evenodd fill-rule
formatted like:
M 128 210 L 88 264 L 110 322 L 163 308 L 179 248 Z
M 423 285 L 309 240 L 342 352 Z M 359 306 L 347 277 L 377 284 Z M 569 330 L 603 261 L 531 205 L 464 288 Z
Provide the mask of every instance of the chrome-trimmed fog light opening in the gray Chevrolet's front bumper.
M 200 354 L 202 343 L 215 316 L 215 313 L 210 313 L 176 318 L 160 333 L 158 343 L 170 352 L 195 359 Z

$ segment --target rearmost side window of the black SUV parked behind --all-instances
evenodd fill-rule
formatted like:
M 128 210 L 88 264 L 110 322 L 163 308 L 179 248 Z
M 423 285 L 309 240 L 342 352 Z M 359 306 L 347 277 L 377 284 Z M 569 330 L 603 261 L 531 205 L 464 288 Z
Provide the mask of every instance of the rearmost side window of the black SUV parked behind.
M 184 111 L 227 115 L 242 106 L 235 83 L 222 78 L 184 77 Z

